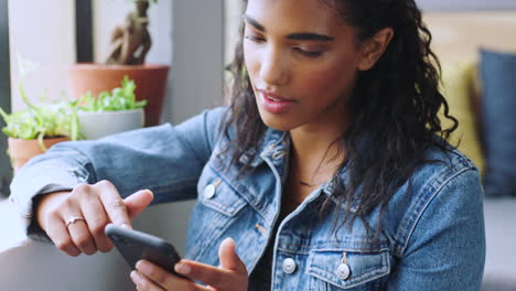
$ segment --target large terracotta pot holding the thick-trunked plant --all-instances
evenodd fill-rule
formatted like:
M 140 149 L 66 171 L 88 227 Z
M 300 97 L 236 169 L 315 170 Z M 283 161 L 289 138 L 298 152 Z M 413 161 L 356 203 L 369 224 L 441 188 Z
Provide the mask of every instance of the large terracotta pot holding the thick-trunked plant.
M 82 63 L 74 64 L 68 69 L 69 89 L 74 98 L 79 98 L 87 91 L 94 96 L 105 90 L 119 87 L 125 75 L 137 84 L 138 100 L 147 99 L 146 127 L 160 122 L 161 108 L 166 89 L 169 66 L 165 65 L 104 65 Z

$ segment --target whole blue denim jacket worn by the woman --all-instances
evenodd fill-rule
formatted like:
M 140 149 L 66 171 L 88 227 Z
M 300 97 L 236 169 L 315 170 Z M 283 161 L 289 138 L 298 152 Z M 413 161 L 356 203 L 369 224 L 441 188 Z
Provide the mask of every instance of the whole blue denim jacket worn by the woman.
M 252 160 L 248 151 L 228 168 L 232 150 L 221 155 L 227 141 L 218 131 L 226 114 L 227 108 L 217 108 L 176 127 L 63 142 L 33 159 L 11 184 L 11 200 L 25 218 L 29 235 L 37 235 L 32 217 L 36 195 L 108 180 L 122 196 L 152 190 L 153 203 L 196 198 L 186 258 L 218 266 L 218 246 L 232 237 L 252 273 L 270 244 L 271 290 L 480 290 L 485 258 L 483 192 L 477 170 L 463 154 L 428 150 L 428 159 L 442 162 L 421 166 L 410 191 L 404 185 L 394 194 L 379 238 L 373 240 L 361 219 L 335 233 L 335 215 L 343 212 L 319 219 L 331 182 L 278 222 L 289 134 L 268 129 Z M 251 174 L 237 176 L 248 161 Z M 346 181 L 346 170 L 341 174 Z M 365 217 L 373 229 L 378 213 Z M 272 234 L 276 224 L 278 231 Z

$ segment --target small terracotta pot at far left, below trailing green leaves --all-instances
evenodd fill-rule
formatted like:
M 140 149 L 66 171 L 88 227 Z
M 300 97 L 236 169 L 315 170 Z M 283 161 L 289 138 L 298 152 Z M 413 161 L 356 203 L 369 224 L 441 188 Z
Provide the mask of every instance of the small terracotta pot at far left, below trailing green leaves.
M 69 140 L 69 138 L 43 139 L 43 144 L 45 144 L 46 149 L 50 149 L 55 143 L 67 140 Z M 8 146 L 14 172 L 22 168 L 30 159 L 43 153 L 36 139 L 22 140 L 8 138 Z

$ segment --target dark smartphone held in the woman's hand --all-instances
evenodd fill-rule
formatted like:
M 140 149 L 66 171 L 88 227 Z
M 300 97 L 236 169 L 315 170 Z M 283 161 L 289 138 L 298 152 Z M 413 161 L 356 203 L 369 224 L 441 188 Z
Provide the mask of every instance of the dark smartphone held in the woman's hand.
M 175 276 L 185 278 L 174 271 L 174 265 L 181 260 L 181 256 L 166 240 L 114 224 L 108 224 L 105 233 L 131 269 L 136 269 L 139 260 L 146 259 Z

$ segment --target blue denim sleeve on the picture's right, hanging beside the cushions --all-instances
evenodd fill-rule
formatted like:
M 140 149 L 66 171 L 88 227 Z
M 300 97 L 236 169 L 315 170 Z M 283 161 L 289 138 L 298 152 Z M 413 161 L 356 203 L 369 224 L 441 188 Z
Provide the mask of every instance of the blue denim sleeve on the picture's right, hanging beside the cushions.
M 465 170 L 443 184 L 412 226 L 388 290 L 481 290 L 485 262 L 482 198 L 476 170 Z

